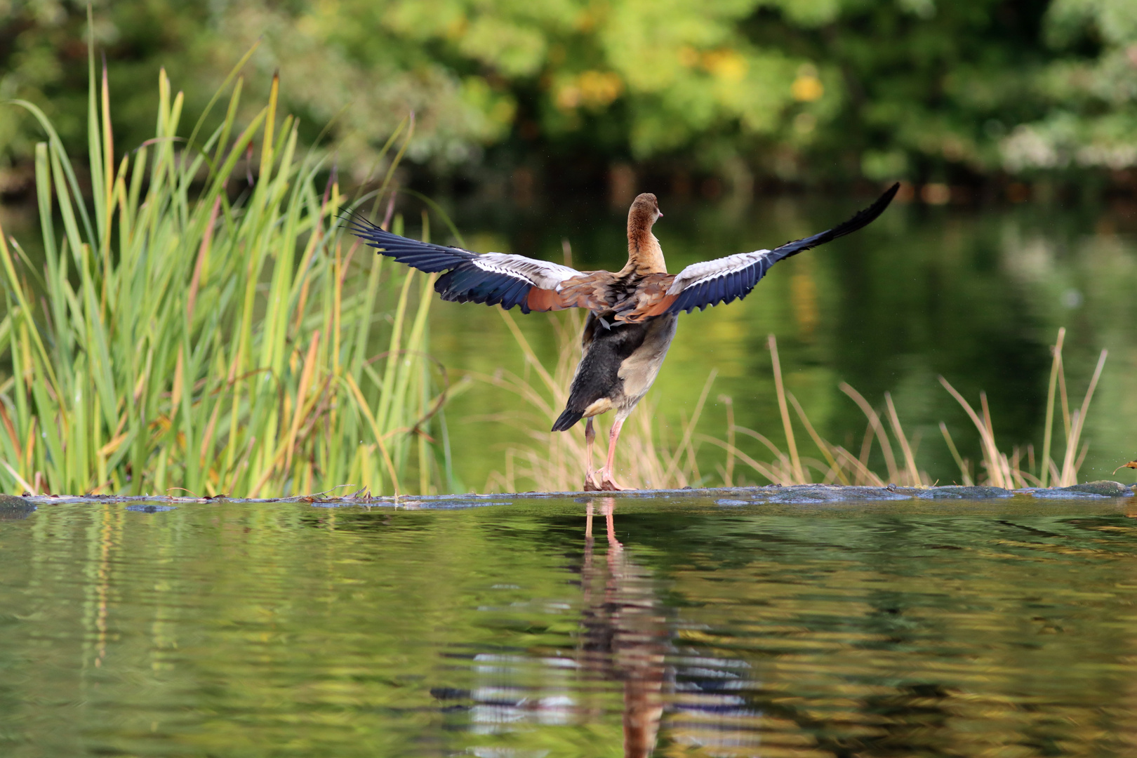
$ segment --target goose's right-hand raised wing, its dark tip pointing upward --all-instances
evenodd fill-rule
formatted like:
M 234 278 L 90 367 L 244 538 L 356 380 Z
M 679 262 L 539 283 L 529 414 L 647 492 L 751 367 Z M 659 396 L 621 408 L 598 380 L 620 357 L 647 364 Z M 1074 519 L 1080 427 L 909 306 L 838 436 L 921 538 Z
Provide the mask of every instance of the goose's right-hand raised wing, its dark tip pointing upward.
M 699 264 L 691 264 L 679 272 L 663 300 L 653 310 L 658 313 L 678 314 L 680 310 L 690 313 L 704 309 L 707 306 L 716 306 L 720 302 L 730 302 L 738 298 L 745 298 L 754 289 L 770 267 L 783 258 L 795 256 L 803 250 L 815 248 L 819 244 L 831 242 L 839 236 L 850 234 L 858 228 L 871 224 L 880 214 L 885 211 L 888 203 L 893 201 L 899 183 L 894 184 L 885 194 L 880 195 L 874 203 L 857 213 L 853 218 L 844 224 L 839 224 L 831 230 L 807 236 L 804 240 L 787 242 L 773 250 L 755 250 L 754 252 L 740 252 L 737 256 L 727 256 L 716 260 L 706 260 Z M 667 301 L 671 301 L 667 303 Z

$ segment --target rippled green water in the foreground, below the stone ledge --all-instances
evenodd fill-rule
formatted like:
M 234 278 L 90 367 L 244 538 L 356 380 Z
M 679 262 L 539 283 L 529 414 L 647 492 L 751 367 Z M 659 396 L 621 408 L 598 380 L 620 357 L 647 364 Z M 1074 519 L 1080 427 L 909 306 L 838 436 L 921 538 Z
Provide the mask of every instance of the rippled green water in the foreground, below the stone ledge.
M 1132 755 L 1134 516 L 6 511 L 0 755 Z

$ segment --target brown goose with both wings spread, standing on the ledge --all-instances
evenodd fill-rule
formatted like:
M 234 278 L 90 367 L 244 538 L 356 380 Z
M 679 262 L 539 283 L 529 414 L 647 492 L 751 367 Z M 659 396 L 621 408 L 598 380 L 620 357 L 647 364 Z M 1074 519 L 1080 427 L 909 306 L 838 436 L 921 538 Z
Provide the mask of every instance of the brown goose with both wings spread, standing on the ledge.
M 619 272 L 580 272 L 570 266 L 501 252 L 478 253 L 392 234 L 359 215 L 349 231 L 365 244 L 401 264 L 441 274 L 434 290 L 451 302 L 481 302 L 521 313 L 584 308 L 581 359 L 568 401 L 553 424 L 572 428 L 581 418 L 586 441 L 586 491 L 623 490 L 614 478 L 616 440 L 624 420 L 647 394 L 675 336 L 680 313 L 703 310 L 745 298 L 779 260 L 831 242 L 869 225 L 896 195 L 890 186 L 868 208 L 837 226 L 772 250 L 705 260 L 669 274 L 652 227 L 663 214 L 656 197 L 637 195 L 628 211 L 628 264 Z M 592 418 L 615 411 L 608 455 L 592 469 Z

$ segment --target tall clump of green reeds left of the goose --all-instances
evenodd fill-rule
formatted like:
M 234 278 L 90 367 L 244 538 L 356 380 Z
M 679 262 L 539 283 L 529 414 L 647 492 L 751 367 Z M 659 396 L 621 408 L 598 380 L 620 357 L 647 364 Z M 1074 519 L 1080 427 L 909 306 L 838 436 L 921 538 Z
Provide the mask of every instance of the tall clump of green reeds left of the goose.
M 327 168 L 298 155 L 297 120 L 277 123 L 279 81 L 238 123 L 247 59 L 200 143 L 208 110 L 179 136 L 183 95 L 163 70 L 155 138 L 116 155 L 92 53 L 90 207 L 50 120 L 15 103 L 48 138 L 35 150 L 45 260 L 41 275 L 0 230 L 3 490 L 377 494 L 415 472 L 413 486 L 437 486 L 432 277 L 385 280 L 383 257 L 342 235 L 349 203 L 334 172 L 321 186 Z M 413 127 L 388 141 L 371 194 L 396 232 L 391 177 Z

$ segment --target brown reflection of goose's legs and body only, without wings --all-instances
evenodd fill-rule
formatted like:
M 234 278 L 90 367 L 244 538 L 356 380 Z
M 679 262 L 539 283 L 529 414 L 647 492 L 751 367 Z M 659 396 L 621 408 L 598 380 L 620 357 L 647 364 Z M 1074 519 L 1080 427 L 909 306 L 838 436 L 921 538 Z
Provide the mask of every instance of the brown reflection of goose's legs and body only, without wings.
M 655 749 L 663 715 L 667 619 L 650 572 L 632 563 L 616 540 L 615 501 L 600 500 L 608 539 L 607 570 L 594 555 L 592 501 L 587 508 L 581 663 L 594 675 L 623 683 L 624 756 L 646 758 Z

